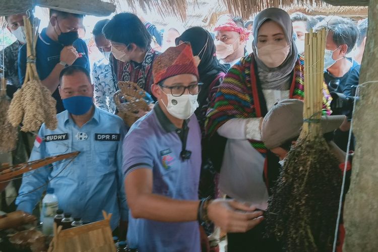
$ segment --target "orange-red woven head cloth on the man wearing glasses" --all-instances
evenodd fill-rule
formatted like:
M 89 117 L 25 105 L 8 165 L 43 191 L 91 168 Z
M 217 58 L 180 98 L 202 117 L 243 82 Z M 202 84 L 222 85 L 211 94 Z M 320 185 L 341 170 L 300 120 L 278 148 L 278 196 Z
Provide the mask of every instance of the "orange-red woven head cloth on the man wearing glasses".
M 152 66 L 154 83 L 182 74 L 198 74 L 198 59 L 193 56 L 190 43 L 182 43 L 176 47 L 169 47 L 162 54 L 156 57 Z

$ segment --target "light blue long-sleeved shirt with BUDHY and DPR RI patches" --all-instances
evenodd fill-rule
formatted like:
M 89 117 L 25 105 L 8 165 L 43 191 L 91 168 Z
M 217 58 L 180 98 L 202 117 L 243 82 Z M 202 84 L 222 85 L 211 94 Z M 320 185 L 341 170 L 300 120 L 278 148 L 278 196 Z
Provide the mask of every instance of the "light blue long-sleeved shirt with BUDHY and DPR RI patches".
M 115 229 L 129 213 L 122 176 L 122 119 L 97 107 L 82 128 L 67 110 L 57 114 L 57 119 L 56 130 L 42 124 L 38 133 L 42 142 L 35 141 L 30 161 L 74 151 L 80 154 L 71 163 L 66 159 L 25 173 L 16 200 L 18 210 L 31 213 L 47 185 L 32 191 L 52 179 L 48 187 L 54 188 L 59 209 L 83 222 L 102 220 L 105 210 L 113 214 L 110 224 Z

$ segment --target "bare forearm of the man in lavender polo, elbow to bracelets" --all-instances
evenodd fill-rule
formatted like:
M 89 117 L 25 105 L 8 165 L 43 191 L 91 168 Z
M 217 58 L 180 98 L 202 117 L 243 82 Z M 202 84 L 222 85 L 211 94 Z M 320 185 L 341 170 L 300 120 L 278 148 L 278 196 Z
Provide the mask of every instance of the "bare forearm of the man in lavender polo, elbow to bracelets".
M 164 222 L 196 221 L 199 201 L 174 200 L 155 194 L 139 195 L 129 205 L 134 218 Z

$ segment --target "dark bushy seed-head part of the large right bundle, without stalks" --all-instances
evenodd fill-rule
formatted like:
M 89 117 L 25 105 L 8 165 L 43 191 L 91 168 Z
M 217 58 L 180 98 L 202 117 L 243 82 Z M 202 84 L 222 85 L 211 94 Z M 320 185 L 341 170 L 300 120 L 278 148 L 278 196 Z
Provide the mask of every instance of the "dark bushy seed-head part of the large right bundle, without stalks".
M 267 230 L 285 251 L 331 251 L 342 173 L 323 138 L 289 152 L 268 201 Z

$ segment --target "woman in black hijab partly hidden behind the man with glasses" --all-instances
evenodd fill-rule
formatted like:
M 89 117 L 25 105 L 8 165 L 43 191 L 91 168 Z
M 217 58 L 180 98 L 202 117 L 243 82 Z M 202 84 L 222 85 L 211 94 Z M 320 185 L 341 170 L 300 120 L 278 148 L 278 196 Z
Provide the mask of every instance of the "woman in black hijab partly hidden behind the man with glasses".
M 216 94 L 219 85 L 222 83 L 227 69 L 226 67 L 221 65 L 216 58 L 214 40 L 211 37 L 210 33 L 205 29 L 201 27 L 192 27 L 190 29 L 187 29 L 181 34 L 181 36 L 176 38 L 176 45 L 182 42 L 190 42 L 192 45 L 193 55 L 199 57 L 199 82 L 203 83 L 201 91 L 198 95 L 199 108 L 195 112 L 200 123 L 203 136 L 203 154 L 199 185 L 199 197 L 200 199 L 207 197 L 215 199 L 218 195 L 218 176 L 207 154 L 208 143 L 204 138 L 204 124 L 209 103 L 214 99 L 214 95 Z M 204 227 L 208 235 L 213 232 L 213 228 L 211 226 L 205 225 Z M 217 240 L 217 237 L 215 237 L 215 240 Z M 217 241 L 210 241 L 210 243 L 213 250 L 218 246 Z

